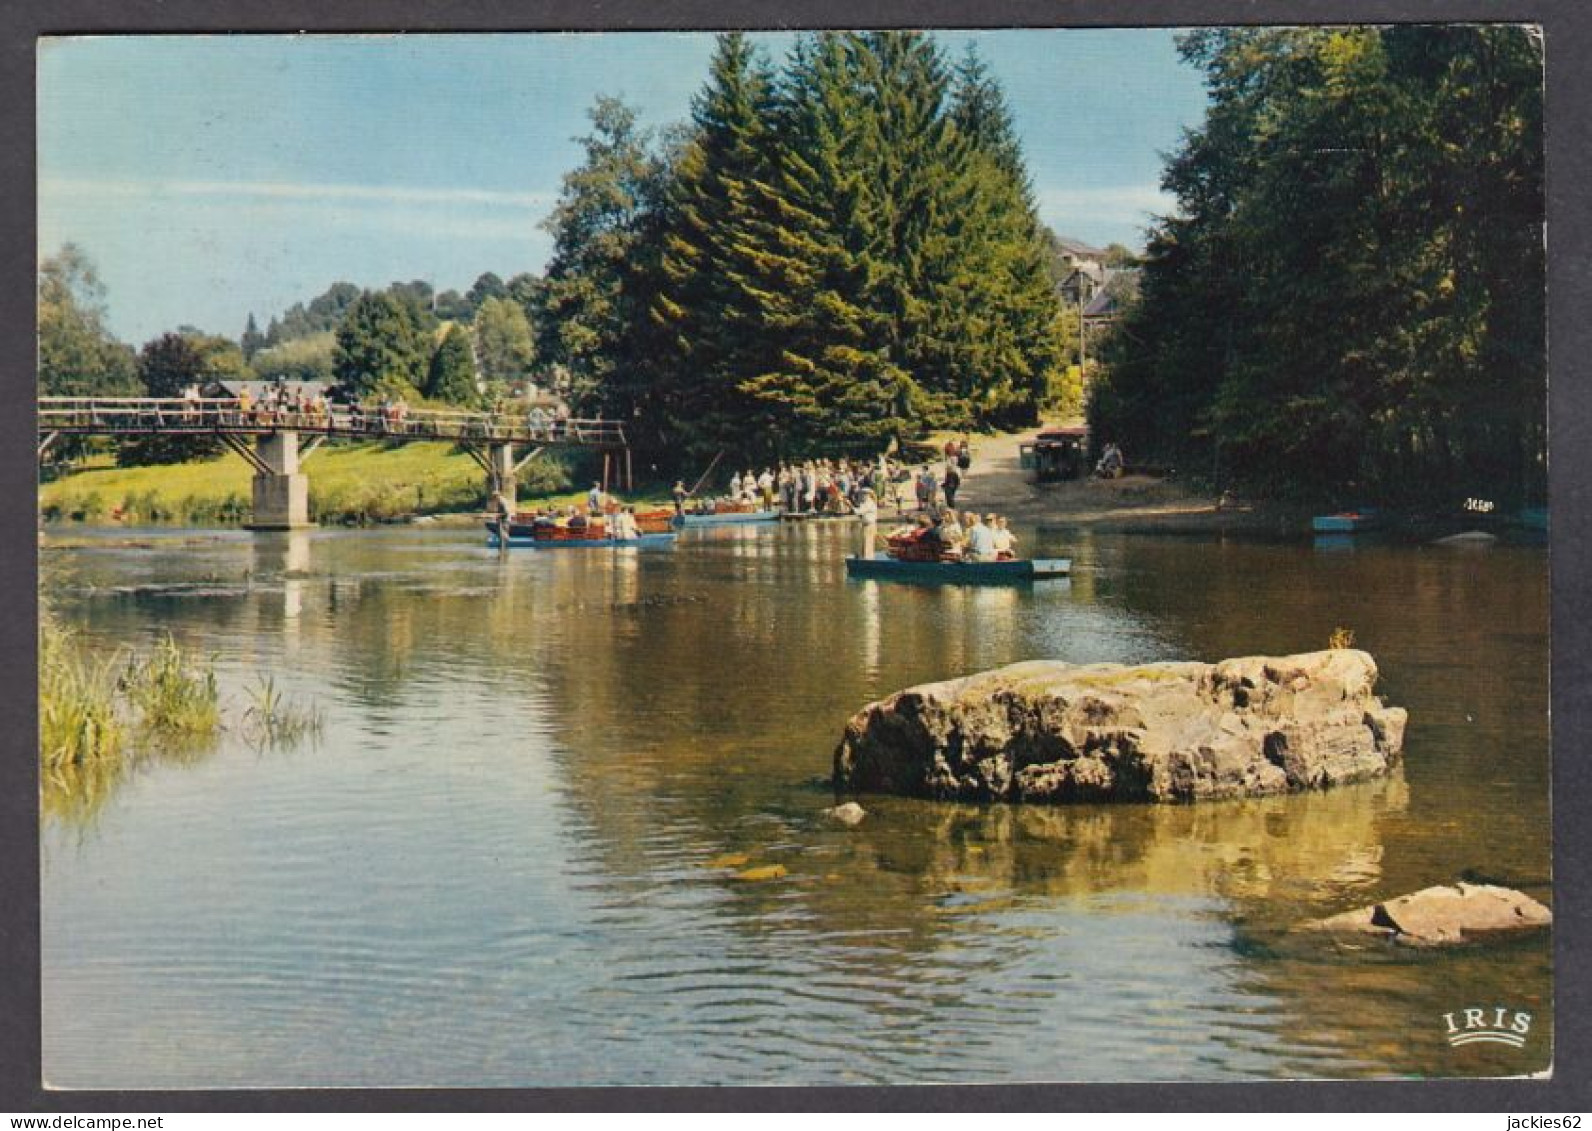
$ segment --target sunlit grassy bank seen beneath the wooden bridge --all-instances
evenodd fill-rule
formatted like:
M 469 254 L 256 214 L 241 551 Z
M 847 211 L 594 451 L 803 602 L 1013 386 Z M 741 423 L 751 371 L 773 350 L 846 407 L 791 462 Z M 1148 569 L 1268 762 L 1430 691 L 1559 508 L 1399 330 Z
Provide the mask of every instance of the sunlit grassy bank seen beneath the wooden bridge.
M 322 521 L 380 519 L 414 511 L 478 508 L 486 475 L 447 443 L 339 444 L 315 452 L 309 475 L 310 515 Z M 237 456 L 166 467 L 91 467 L 40 487 L 46 518 L 126 522 L 240 522 L 250 508 L 248 465 Z M 521 473 L 521 499 L 568 484 L 562 468 L 533 464 Z

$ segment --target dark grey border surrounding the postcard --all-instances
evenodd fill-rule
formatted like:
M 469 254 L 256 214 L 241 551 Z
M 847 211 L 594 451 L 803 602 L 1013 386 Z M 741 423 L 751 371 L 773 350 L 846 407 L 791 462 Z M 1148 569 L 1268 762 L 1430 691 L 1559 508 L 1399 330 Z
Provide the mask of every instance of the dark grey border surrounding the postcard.
M 501 1091 L 46 1093 L 40 1085 L 35 696 L 37 279 L 33 46 L 38 35 L 181 32 L 721 30 L 796 27 L 1186 27 L 1197 24 L 1532 22 L 1546 41 L 1549 508 L 1555 814 L 1552 1080 L 667 1088 Z M 1592 570 L 1592 13 L 1587 0 L 22 0 L 0 10 L 0 1112 L 204 1110 L 1457 1110 L 1516 1115 L 1589 1104 L 1587 956 Z M 1508 679 L 1500 672 L 1500 679 Z M 1485 814 L 1477 814 L 1485 825 Z

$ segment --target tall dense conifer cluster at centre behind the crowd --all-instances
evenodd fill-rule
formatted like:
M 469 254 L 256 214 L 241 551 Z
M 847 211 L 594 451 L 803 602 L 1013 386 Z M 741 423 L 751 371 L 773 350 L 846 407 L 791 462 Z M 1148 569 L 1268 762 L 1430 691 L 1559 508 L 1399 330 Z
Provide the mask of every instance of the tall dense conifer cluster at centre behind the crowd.
M 549 220 L 540 355 L 654 460 L 1032 421 L 1063 368 L 1001 92 L 927 35 L 720 38 L 689 127 L 613 100 Z

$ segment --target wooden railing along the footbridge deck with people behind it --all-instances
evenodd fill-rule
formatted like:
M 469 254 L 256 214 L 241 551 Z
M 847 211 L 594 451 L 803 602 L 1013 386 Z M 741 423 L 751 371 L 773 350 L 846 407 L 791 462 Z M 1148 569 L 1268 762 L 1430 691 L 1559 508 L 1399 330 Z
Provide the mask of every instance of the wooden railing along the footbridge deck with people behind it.
M 68 435 L 261 435 L 309 432 L 328 436 L 583 444 L 622 448 L 618 421 L 532 413 L 470 413 L 406 406 L 282 406 L 237 398 L 41 397 L 38 432 Z

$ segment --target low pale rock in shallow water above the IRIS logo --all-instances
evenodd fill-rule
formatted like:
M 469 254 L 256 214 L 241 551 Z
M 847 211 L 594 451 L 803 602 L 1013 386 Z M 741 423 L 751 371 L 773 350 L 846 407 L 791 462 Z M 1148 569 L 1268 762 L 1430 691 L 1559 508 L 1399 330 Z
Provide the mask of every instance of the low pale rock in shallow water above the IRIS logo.
M 1547 927 L 1554 913 L 1530 895 L 1490 884 L 1425 887 L 1412 895 L 1304 924 L 1309 930 L 1379 935 L 1411 946 Z

